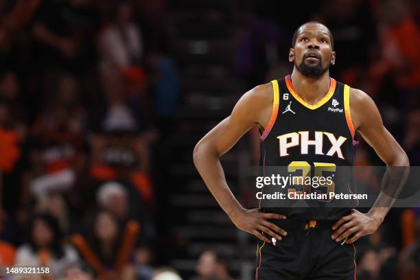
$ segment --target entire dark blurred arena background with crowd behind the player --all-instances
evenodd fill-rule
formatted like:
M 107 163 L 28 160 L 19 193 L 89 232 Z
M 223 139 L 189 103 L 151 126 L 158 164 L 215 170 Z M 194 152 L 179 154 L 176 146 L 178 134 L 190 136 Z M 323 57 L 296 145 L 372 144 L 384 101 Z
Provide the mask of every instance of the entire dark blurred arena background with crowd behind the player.
M 419 1 L 0 0 L 0 266 L 253 279 L 255 238 L 192 150 L 244 92 L 291 72 L 292 34 L 312 20 L 334 35 L 331 76 L 373 97 L 419 165 Z M 244 203 L 257 135 L 222 157 Z M 356 161 L 383 165 L 364 143 Z M 420 279 L 419 209 L 392 209 L 356 248 L 358 279 Z

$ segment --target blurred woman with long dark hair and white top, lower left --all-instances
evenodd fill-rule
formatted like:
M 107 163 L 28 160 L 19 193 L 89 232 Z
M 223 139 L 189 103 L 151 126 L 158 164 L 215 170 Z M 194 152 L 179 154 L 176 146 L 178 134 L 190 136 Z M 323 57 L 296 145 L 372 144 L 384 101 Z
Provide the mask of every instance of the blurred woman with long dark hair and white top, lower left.
M 16 266 L 49 266 L 57 278 L 62 269 L 79 260 L 73 246 L 62 243 L 60 226 L 52 215 L 34 215 L 28 234 L 28 242 L 17 250 Z

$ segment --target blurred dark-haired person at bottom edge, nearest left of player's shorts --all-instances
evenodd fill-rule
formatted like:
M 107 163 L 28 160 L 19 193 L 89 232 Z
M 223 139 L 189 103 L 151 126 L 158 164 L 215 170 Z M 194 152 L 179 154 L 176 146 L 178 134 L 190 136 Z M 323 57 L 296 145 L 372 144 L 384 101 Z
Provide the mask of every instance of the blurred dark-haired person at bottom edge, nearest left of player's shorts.
M 196 271 L 200 280 L 233 280 L 226 259 L 215 250 L 200 255 Z

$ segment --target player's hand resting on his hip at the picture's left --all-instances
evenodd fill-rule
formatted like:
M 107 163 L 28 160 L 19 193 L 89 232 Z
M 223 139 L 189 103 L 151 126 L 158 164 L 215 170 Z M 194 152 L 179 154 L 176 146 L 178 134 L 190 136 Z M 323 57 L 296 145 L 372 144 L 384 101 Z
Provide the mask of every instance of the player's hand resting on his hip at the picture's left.
M 285 218 L 285 215 L 276 213 L 263 213 L 257 208 L 249 210 L 242 209 L 231 215 L 231 220 L 238 229 L 253 234 L 266 243 L 271 243 L 271 240 L 268 239 L 264 233 L 274 237 L 279 241 L 282 239 L 281 235 L 286 236 L 288 234 L 285 230 L 279 228 L 279 226 L 268 222 L 268 220 Z

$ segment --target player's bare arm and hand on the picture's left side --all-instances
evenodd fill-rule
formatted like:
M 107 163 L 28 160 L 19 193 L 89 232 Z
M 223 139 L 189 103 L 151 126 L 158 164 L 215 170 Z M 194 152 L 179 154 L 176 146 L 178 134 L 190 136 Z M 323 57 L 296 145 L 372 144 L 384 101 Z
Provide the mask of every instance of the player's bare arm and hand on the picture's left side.
M 267 220 L 285 217 L 275 213 L 261 213 L 257 209 L 244 209 L 226 183 L 219 158 L 254 125 L 264 129 L 271 113 L 272 85 L 257 86 L 245 93 L 233 108 L 231 115 L 207 133 L 194 148 L 194 164 L 220 207 L 229 215 L 235 226 L 264 242 L 270 240 L 262 235 L 261 231 L 277 240 L 281 240 L 280 235 L 286 234 Z

